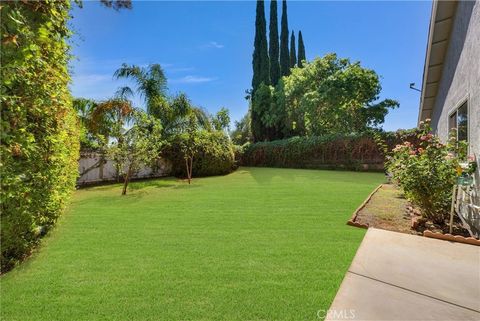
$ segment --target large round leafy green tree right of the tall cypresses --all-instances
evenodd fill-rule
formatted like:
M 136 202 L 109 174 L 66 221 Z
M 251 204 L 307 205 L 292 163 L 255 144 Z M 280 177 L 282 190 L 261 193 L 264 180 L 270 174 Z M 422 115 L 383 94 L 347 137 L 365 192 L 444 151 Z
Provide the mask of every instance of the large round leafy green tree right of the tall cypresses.
M 335 54 L 292 69 L 283 81 L 289 135 L 363 132 L 382 124 L 399 105 L 379 101 L 382 87 L 375 71 Z

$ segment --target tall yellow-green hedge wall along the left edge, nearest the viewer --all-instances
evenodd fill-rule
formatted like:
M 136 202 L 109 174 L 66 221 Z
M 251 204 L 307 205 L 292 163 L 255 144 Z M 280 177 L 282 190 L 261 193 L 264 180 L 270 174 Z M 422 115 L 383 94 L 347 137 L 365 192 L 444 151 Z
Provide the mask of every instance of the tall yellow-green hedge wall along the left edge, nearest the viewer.
M 69 1 L 2 3 L 1 269 L 57 220 L 78 175 L 68 90 Z

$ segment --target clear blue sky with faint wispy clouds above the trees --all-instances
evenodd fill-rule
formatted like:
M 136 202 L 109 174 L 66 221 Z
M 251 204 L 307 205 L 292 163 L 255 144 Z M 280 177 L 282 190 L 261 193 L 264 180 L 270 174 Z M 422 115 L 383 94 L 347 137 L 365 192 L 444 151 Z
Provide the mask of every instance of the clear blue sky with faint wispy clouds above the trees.
M 421 86 L 430 8 L 430 1 L 289 1 L 289 29 L 302 30 L 309 60 L 336 52 L 374 69 L 381 97 L 400 102 L 384 128 L 411 128 L 419 92 L 409 83 Z M 267 19 L 268 9 L 266 2 Z M 72 15 L 74 96 L 109 98 L 126 84 L 112 78 L 123 62 L 160 63 L 170 93 L 185 92 L 211 113 L 227 107 L 232 120 L 247 111 L 255 1 L 134 1 L 120 12 L 84 1 Z

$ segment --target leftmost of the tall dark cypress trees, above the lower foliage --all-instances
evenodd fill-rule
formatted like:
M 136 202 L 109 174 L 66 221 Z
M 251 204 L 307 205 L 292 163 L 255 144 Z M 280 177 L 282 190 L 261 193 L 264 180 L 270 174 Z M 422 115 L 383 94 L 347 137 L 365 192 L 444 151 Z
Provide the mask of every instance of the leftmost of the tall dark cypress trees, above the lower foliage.
M 255 42 L 253 49 L 253 92 L 261 83 L 270 85 L 270 61 L 268 59 L 267 22 L 263 0 L 257 0 L 257 16 L 255 19 Z

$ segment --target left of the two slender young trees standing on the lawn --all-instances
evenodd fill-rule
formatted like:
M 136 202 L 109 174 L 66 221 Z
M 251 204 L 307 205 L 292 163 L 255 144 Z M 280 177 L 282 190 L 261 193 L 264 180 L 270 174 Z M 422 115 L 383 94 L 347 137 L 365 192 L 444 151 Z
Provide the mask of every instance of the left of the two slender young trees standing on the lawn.
M 144 112 L 133 114 L 133 126 L 108 149 L 109 155 L 117 160 L 124 178 L 122 195 L 127 194 L 128 183 L 142 166 L 151 164 L 158 158 L 163 145 L 162 125 L 159 120 Z

